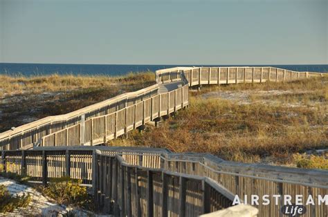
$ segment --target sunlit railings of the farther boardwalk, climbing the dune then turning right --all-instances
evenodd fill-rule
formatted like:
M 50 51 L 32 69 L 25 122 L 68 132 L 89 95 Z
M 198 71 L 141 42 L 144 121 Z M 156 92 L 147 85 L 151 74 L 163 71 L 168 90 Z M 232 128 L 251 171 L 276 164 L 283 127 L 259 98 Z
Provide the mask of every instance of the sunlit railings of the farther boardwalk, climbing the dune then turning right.
M 176 67 L 157 70 L 157 84 L 153 86 L 0 133 L 0 150 L 30 149 L 39 145 L 101 144 L 188 105 L 188 86 L 289 82 L 324 75 L 273 67 Z M 168 93 L 159 93 L 162 84 L 176 81 L 183 85 Z

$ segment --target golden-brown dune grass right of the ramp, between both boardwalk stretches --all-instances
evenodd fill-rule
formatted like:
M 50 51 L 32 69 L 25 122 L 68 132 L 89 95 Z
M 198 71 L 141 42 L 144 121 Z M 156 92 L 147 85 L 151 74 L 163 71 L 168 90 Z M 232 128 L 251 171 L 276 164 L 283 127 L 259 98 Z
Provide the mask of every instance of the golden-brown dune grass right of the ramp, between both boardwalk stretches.
M 327 150 L 318 158 L 298 154 L 318 155 L 314 150 L 328 149 L 327 84 L 325 77 L 203 86 L 201 91 L 191 91 L 187 109 L 158 128 L 132 131 L 109 145 L 162 147 L 239 162 L 328 169 Z

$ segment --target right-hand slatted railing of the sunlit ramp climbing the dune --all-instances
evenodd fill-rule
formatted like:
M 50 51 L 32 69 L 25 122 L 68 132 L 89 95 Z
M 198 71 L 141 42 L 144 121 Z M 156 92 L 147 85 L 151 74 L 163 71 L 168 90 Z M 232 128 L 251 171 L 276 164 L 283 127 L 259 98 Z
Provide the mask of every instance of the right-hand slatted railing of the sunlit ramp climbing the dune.
M 138 126 L 168 115 L 188 105 L 188 85 L 167 93 L 158 93 L 123 109 L 91 117 L 81 123 L 42 137 L 40 146 L 72 146 L 102 144 Z M 82 133 L 82 131 L 84 133 Z

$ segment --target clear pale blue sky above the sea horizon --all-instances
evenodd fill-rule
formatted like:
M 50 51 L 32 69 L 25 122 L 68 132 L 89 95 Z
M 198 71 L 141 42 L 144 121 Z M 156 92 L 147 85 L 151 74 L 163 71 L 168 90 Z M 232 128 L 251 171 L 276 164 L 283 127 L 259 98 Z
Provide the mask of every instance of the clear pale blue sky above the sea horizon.
M 0 62 L 328 64 L 327 20 L 327 0 L 0 0 Z

